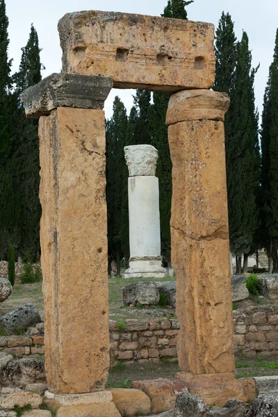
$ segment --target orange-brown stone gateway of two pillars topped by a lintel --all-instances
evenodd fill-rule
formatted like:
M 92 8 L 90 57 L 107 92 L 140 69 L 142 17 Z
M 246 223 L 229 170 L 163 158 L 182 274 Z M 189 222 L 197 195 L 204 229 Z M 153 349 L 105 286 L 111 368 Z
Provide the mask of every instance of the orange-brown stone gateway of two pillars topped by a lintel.
M 229 98 L 213 86 L 213 25 L 81 12 L 59 22 L 63 73 L 23 95 L 40 117 L 41 247 L 49 398 L 59 416 L 101 409 L 109 368 L 104 101 L 111 88 L 174 93 L 169 125 L 179 387 L 208 404 L 248 400 L 234 377 L 224 157 Z M 86 408 L 87 407 L 87 408 Z M 61 410 L 61 411 L 60 411 Z M 99 414 L 100 415 L 100 414 Z M 101 416 L 104 414 L 101 414 Z

